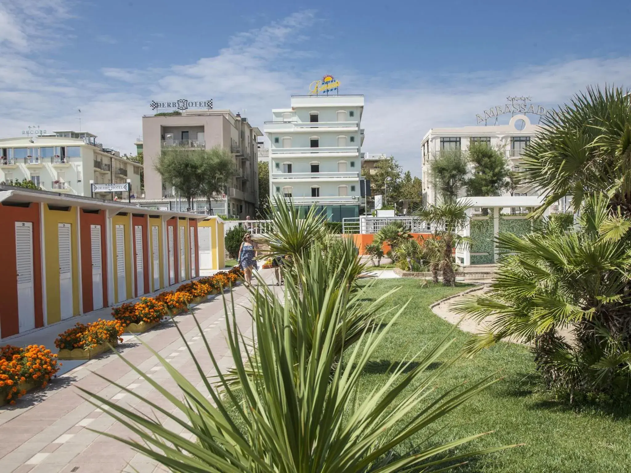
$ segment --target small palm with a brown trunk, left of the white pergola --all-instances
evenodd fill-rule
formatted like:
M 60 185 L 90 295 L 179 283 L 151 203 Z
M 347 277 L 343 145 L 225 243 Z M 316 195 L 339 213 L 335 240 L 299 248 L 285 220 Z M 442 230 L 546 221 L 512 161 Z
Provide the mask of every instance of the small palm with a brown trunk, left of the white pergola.
M 467 210 L 471 204 L 466 201 L 447 200 L 440 204 L 430 204 L 428 207 L 415 211 L 415 216 L 435 226 L 433 238 L 442 242 L 443 254 L 440 260 L 442 269 L 442 283 L 445 286 L 456 285 L 454 271 L 454 248 L 468 245 L 468 238 L 457 232 L 469 222 Z

